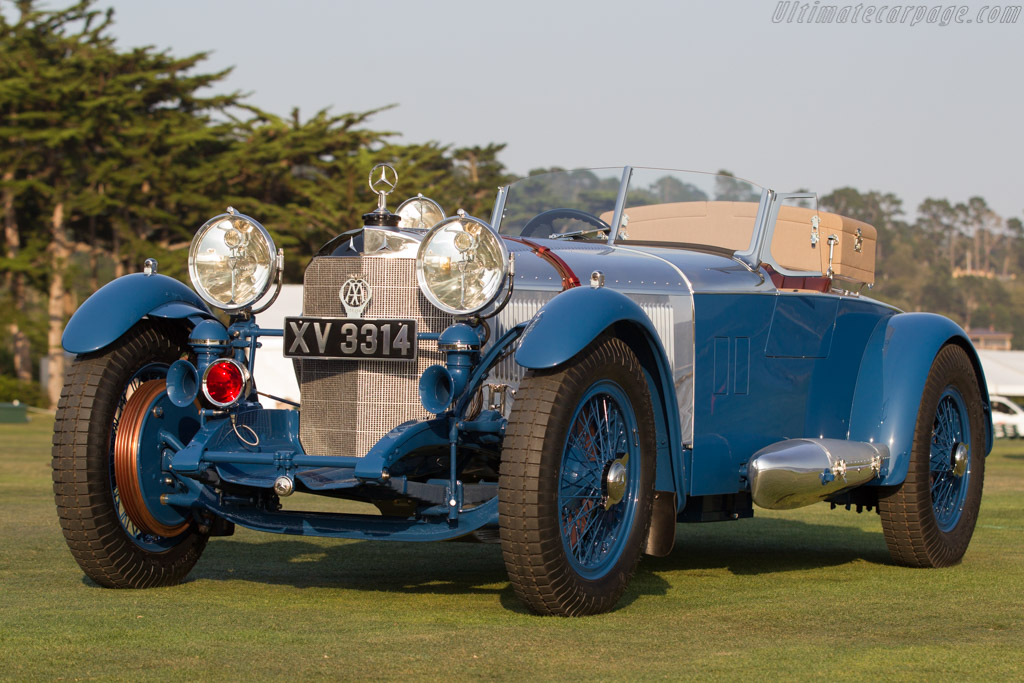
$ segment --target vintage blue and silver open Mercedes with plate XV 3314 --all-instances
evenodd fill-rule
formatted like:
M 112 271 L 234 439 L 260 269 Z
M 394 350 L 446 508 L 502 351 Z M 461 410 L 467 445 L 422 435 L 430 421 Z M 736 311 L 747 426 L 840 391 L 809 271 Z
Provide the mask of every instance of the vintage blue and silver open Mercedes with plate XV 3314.
M 191 244 L 195 292 L 147 261 L 71 319 L 53 487 L 90 579 L 178 583 L 236 524 L 465 538 L 501 543 L 529 609 L 590 614 L 677 522 L 817 502 L 878 510 L 899 564 L 963 557 L 985 379 L 956 325 L 862 296 L 870 225 L 725 174 L 534 175 L 489 224 L 422 195 L 392 213 L 394 169 L 370 180 L 283 329 L 257 323 L 283 254 L 230 208 Z M 295 410 L 258 402 L 268 337 Z

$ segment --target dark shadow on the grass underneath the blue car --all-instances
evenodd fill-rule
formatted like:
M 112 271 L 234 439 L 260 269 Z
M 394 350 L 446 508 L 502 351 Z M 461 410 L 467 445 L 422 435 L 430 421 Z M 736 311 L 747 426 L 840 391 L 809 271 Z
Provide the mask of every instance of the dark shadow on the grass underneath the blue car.
M 787 519 L 681 524 L 673 553 L 645 558 L 616 609 L 640 596 L 667 593 L 670 584 L 662 574 L 670 571 L 726 569 L 740 575 L 771 574 L 855 560 L 888 564 L 882 535 Z M 270 537 L 255 543 L 215 539 L 189 579 L 408 594 L 496 595 L 507 609 L 525 611 L 508 584 L 501 548 L 494 544 L 335 543 L 296 537 Z

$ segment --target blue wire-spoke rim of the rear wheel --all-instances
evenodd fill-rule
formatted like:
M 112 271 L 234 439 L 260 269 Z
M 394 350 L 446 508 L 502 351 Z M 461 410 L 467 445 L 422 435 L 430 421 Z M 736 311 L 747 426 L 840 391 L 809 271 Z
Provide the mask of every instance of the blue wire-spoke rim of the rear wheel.
M 971 443 L 971 423 L 967 403 L 961 392 L 946 387 L 935 409 L 932 428 L 929 482 L 932 493 L 932 510 L 942 531 L 948 532 L 959 523 L 971 481 L 971 459 L 959 476 L 953 472 L 953 453 L 959 443 Z

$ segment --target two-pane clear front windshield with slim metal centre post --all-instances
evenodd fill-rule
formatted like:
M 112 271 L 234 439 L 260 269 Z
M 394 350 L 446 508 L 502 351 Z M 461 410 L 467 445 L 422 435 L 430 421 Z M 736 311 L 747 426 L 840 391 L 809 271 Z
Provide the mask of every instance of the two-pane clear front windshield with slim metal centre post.
M 618 208 L 616 242 L 750 248 L 759 185 L 724 173 L 634 168 L 616 207 L 623 170 L 554 171 L 512 183 L 500 232 L 606 241 Z

